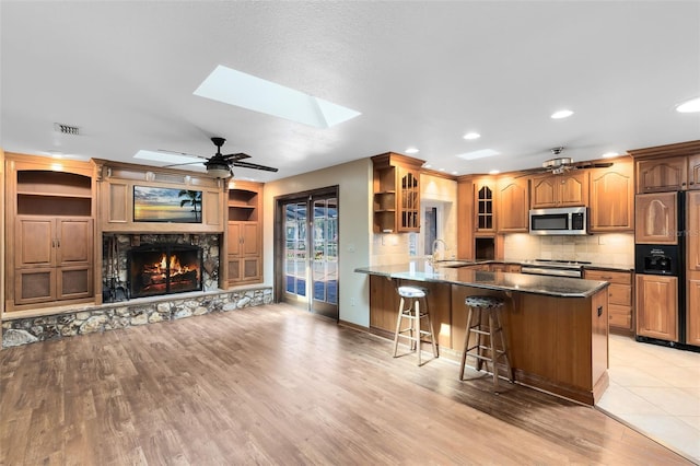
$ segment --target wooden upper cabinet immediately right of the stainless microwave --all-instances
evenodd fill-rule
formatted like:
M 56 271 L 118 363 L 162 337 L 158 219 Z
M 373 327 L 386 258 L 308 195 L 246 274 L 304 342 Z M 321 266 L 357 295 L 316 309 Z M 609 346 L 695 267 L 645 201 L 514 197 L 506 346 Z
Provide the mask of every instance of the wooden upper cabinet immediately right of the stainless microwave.
M 590 173 L 592 233 L 634 230 L 634 166 L 631 160 L 612 163 L 609 168 L 594 168 Z

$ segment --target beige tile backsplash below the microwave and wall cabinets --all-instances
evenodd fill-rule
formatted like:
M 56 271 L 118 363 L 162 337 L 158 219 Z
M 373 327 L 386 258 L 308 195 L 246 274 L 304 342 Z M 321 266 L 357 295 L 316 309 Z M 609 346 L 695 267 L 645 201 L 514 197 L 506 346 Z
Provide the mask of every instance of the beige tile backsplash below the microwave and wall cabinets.
M 504 259 L 586 260 L 598 265 L 633 267 L 634 233 L 586 236 L 511 234 L 505 236 Z

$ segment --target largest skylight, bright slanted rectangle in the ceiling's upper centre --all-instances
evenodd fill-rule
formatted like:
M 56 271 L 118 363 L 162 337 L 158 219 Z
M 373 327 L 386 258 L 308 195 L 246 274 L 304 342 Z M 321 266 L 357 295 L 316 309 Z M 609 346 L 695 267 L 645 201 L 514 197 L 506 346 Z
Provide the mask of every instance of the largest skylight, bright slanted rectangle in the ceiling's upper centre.
M 330 128 L 361 115 L 360 112 L 222 65 L 199 84 L 194 94 L 316 128 Z

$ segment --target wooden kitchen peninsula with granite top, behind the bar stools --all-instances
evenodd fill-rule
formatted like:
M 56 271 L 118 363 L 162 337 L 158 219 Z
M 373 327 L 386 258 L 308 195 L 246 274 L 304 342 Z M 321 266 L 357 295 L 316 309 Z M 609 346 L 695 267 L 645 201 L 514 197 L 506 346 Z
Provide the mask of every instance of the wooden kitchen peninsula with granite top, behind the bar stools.
M 380 335 L 393 336 L 399 300 L 396 287 L 424 287 L 442 354 L 458 359 L 466 334 L 465 298 L 502 296 L 505 339 L 517 383 L 587 405 L 594 405 L 608 386 L 605 281 L 433 268 L 425 260 L 355 272 L 370 275 L 370 327 Z M 455 377 L 457 372 L 455 368 Z

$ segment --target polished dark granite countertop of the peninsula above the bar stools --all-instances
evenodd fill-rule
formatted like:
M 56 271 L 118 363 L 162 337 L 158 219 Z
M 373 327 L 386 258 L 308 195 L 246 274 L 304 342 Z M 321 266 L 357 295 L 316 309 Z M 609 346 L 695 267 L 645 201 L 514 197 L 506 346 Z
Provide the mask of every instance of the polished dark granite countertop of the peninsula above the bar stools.
M 427 260 L 413 260 L 393 266 L 360 267 L 354 271 L 393 279 L 460 284 L 488 290 L 517 291 L 561 298 L 587 298 L 608 286 L 607 281 L 490 272 L 436 264 L 439 266 L 433 268 Z

